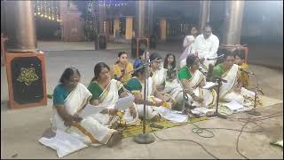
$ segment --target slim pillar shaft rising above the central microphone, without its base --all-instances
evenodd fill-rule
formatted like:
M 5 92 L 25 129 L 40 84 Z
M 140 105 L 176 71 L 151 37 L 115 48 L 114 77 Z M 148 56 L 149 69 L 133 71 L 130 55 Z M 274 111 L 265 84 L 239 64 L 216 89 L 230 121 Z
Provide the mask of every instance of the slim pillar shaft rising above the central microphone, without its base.
M 144 37 L 145 36 L 145 8 L 146 1 L 136 1 L 136 36 Z

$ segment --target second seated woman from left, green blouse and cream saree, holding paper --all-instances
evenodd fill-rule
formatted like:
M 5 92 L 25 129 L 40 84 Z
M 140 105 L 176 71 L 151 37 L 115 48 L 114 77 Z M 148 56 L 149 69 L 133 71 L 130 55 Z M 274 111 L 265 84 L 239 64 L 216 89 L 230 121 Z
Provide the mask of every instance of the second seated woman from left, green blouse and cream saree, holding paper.
M 104 62 L 99 62 L 94 68 L 95 76 L 89 84 L 89 91 L 92 93 L 90 100 L 91 105 L 107 106 L 101 113 L 94 116 L 99 118 L 99 122 L 105 125 L 117 124 L 136 124 L 139 123 L 137 109 L 134 104 L 130 108 L 118 112 L 114 109 L 115 102 L 122 97 L 128 96 L 124 91 L 123 85 L 120 81 L 111 79 L 110 68 Z M 123 113 L 124 112 L 124 113 Z

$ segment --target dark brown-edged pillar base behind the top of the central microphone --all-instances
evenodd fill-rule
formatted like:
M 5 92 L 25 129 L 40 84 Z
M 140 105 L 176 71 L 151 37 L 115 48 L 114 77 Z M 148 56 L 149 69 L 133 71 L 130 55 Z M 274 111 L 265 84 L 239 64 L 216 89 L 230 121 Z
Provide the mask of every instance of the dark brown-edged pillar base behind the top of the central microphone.
M 148 38 L 132 38 L 131 39 L 131 57 L 138 58 L 139 53 L 149 46 Z

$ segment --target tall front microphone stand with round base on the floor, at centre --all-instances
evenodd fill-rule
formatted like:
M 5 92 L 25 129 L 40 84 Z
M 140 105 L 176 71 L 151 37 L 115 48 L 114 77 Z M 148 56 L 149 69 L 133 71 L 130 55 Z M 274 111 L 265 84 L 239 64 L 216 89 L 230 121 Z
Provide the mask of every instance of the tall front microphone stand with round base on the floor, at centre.
M 139 133 L 134 137 L 134 141 L 138 144 L 150 144 L 154 142 L 154 135 L 146 132 L 146 100 L 147 100 L 147 92 L 148 92 L 148 65 L 153 62 L 148 61 L 148 56 L 146 55 L 146 50 L 144 51 L 145 60 L 147 61 L 142 67 L 145 67 L 145 76 L 144 76 L 144 107 L 143 107 L 143 132 Z M 141 67 L 141 68 L 142 68 Z M 139 69 L 139 68 L 136 68 Z M 135 69 L 134 69 L 135 70 Z

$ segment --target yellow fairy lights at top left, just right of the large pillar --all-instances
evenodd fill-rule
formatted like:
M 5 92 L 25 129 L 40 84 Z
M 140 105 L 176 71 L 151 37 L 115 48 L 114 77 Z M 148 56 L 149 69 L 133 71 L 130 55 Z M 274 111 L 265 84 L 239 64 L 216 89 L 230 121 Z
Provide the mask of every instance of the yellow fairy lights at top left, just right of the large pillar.
M 35 16 L 52 21 L 61 21 L 59 19 L 59 1 L 33 1 Z

